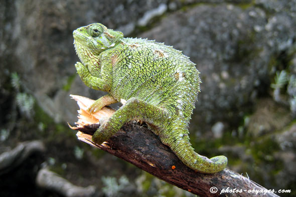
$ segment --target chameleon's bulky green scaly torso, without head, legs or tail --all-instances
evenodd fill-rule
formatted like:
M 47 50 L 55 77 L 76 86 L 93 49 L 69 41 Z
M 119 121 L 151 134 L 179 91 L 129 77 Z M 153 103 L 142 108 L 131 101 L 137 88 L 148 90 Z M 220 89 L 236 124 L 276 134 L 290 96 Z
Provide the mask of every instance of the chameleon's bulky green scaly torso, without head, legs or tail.
M 184 115 L 189 121 L 200 83 L 194 63 L 181 51 L 161 43 L 131 38 L 122 41 L 120 49 L 114 49 L 124 53 L 114 58 L 112 96 L 117 100 L 136 97 Z

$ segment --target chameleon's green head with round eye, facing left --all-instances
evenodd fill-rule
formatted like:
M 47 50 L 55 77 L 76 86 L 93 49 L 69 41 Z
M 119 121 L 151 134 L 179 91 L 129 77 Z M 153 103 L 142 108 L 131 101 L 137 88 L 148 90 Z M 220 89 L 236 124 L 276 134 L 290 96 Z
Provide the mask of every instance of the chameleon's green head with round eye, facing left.
M 73 37 L 76 53 L 84 64 L 120 43 L 123 34 L 94 23 L 74 30 Z

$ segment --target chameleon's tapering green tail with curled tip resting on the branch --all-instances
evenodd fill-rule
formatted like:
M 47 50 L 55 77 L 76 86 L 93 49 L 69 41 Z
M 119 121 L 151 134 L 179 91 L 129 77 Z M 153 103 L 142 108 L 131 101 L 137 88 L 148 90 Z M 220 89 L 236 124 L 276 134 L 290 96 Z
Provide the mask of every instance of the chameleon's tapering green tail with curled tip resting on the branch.
M 189 142 L 187 125 L 180 125 L 175 121 L 168 129 L 169 131 L 163 132 L 171 133 L 170 135 L 160 134 L 162 142 L 168 145 L 188 167 L 202 173 L 214 173 L 225 168 L 227 157 L 220 155 L 209 159 L 194 151 Z

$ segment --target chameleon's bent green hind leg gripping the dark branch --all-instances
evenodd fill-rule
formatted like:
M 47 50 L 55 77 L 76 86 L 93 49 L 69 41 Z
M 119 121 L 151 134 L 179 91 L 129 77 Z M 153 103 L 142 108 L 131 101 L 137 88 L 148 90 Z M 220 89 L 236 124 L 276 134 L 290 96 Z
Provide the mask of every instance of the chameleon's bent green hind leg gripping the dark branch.
M 125 105 L 115 111 L 112 116 L 102 123 L 92 136 L 92 141 L 101 144 L 115 134 L 120 127 L 132 119 L 143 120 L 154 125 L 161 125 L 162 120 L 168 119 L 165 109 L 147 103 L 137 98 L 130 98 Z

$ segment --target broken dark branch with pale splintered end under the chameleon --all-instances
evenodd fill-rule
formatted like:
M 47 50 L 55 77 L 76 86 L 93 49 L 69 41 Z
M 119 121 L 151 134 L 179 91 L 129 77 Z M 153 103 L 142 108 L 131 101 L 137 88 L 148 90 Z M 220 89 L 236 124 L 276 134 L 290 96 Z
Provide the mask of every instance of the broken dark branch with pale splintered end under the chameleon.
M 159 137 L 146 127 L 130 121 L 115 135 L 102 144 L 91 141 L 92 134 L 99 127 L 98 119 L 110 117 L 115 111 L 104 107 L 95 114 L 87 112 L 93 100 L 71 95 L 80 107 L 77 127 L 78 139 L 113 154 L 154 176 L 200 196 L 277 196 L 252 180 L 224 169 L 214 174 L 195 172 L 180 161 Z M 210 192 L 215 191 L 216 192 Z M 220 193 L 222 189 L 228 192 Z M 235 192 L 230 189 L 237 189 Z M 241 189 L 241 190 L 240 190 Z M 241 191 L 241 192 L 239 192 Z M 265 192 L 264 192 L 265 191 Z

